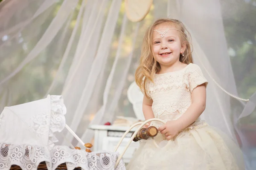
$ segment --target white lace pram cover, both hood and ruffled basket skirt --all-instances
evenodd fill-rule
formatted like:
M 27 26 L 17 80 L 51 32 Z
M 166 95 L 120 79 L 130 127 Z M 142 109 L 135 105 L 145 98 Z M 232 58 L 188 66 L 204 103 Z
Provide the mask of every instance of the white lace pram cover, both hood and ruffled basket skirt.
M 5 107 L 0 114 L 0 169 L 13 164 L 23 170 L 37 170 L 45 161 L 48 170 L 67 164 L 69 170 L 113 170 L 118 153 L 93 152 L 55 146 L 55 132 L 65 127 L 66 107 L 62 96 L 50 96 L 21 105 Z M 116 170 L 125 170 L 123 160 Z

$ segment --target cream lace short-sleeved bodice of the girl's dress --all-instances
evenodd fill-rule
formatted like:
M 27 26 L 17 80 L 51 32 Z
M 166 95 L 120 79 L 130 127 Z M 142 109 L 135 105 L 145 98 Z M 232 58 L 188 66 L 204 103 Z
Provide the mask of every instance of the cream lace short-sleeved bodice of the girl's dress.
M 155 74 L 154 83 L 146 82 L 146 91 L 153 99 L 155 118 L 165 121 L 178 119 L 191 105 L 191 93 L 206 83 L 198 65 L 190 63 L 185 68 L 165 74 Z

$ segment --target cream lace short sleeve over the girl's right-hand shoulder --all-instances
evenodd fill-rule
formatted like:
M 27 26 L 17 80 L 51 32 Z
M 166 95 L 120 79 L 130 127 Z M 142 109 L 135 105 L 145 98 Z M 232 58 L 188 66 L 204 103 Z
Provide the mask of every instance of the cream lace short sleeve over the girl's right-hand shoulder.
M 191 67 L 187 70 L 189 91 L 192 92 L 198 85 L 205 83 L 207 86 L 207 79 L 204 77 L 200 67 L 196 64 L 191 64 Z

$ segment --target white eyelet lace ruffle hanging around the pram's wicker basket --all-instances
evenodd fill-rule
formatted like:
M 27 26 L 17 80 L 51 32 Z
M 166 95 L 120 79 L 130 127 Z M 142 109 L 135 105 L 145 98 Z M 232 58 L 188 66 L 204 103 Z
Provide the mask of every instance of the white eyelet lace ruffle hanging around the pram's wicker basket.
M 58 165 L 66 163 L 68 170 L 81 167 L 84 170 L 113 170 L 119 153 L 93 152 L 70 149 L 67 146 L 55 146 L 48 150 L 45 146 L 26 144 L 14 145 L 0 143 L 0 169 L 9 170 L 12 165 L 18 165 L 23 170 L 37 170 L 40 162 L 45 161 L 48 170 L 55 170 Z M 116 170 L 125 170 L 123 160 Z

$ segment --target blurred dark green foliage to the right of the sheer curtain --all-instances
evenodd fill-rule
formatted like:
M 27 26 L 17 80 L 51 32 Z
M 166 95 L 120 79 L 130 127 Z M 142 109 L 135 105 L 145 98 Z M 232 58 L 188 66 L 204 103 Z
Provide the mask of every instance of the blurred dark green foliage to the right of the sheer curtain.
M 248 99 L 256 91 L 256 0 L 220 2 L 237 91 L 239 96 Z M 239 103 L 232 101 L 235 111 Z M 240 123 L 255 125 L 256 111 Z

